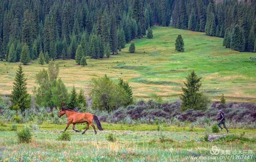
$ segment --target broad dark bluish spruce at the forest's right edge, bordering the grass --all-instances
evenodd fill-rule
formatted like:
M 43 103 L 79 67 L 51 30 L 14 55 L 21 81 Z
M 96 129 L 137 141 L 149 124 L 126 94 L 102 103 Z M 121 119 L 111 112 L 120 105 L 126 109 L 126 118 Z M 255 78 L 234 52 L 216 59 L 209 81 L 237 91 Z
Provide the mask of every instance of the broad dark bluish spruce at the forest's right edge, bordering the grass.
M 241 28 L 236 25 L 231 34 L 230 48 L 237 51 L 244 51 L 244 37 Z

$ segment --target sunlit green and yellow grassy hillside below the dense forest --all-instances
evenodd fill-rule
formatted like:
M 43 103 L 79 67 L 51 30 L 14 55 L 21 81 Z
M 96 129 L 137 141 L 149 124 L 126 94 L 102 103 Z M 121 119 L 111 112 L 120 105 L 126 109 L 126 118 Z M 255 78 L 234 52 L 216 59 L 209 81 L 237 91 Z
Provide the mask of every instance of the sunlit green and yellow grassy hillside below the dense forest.
M 202 88 L 212 100 L 222 93 L 228 101 L 256 102 L 255 53 L 238 52 L 222 46 L 222 38 L 204 33 L 154 27 L 153 39 L 136 39 L 136 52 L 128 53 L 128 46 L 110 59 L 88 59 L 88 66 L 75 65 L 74 60 L 57 60 L 60 78 L 70 89 L 73 85 L 85 88 L 92 77 L 107 74 L 117 80 L 129 80 L 135 98 L 148 98 L 157 93 L 165 100 L 176 100 L 185 77 L 194 69 L 202 77 Z M 174 42 L 182 34 L 185 52 L 177 52 Z M 35 86 L 35 74 L 42 68 L 32 61 L 24 66 L 29 92 Z M 10 94 L 18 63 L 0 62 L 0 94 Z

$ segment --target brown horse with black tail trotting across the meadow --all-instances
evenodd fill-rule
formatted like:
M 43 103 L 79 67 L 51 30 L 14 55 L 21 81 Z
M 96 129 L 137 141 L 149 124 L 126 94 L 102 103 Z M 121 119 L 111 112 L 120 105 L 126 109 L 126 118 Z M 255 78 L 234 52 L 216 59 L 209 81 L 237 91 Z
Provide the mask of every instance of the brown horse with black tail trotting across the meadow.
M 85 123 L 85 122 L 87 122 L 86 129 L 84 130 L 84 132 L 82 134 L 84 134 L 87 131 L 87 129 L 89 128 L 89 125 L 91 125 L 93 127 L 95 134 L 97 134 L 95 126 L 93 125 L 93 120 L 95 120 L 95 123 L 97 124 L 97 128 L 99 130 L 103 130 L 103 128 L 101 127 L 101 124 L 100 124 L 100 120 L 94 114 L 78 113 L 78 112 L 76 112 L 74 110 L 71 110 L 71 109 L 62 108 L 60 110 L 59 114 L 58 114 L 58 117 L 61 117 L 64 114 L 66 114 L 66 116 L 68 118 L 68 123 L 67 123 L 66 129 L 63 132 L 65 132 L 68 129 L 70 124 L 73 124 L 73 130 L 74 131 L 80 132 L 79 130 L 75 129 L 75 124 L 76 123 Z

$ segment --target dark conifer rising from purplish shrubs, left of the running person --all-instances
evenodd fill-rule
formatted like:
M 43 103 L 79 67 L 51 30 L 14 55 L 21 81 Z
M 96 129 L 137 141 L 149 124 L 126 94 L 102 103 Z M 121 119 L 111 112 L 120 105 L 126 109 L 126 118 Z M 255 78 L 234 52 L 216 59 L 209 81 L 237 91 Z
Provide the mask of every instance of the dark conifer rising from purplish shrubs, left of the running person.
M 187 82 L 184 82 L 185 87 L 182 87 L 183 94 L 180 95 L 181 109 L 204 110 L 208 104 L 203 94 L 200 92 L 201 78 L 198 78 L 193 70 L 186 77 Z

